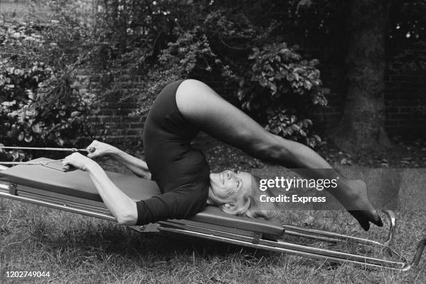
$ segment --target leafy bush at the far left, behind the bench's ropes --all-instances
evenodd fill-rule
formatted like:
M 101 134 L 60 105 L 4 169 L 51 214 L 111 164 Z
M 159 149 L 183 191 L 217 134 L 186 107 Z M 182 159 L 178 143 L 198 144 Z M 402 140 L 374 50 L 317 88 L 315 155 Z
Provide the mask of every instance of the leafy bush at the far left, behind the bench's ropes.
M 2 22 L 0 39 L 4 47 L 0 142 L 30 147 L 78 145 L 91 134 L 86 116 L 93 97 L 79 94 L 70 70 L 51 65 L 52 59 L 44 60 L 47 54 L 54 54 L 56 42 L 47 40 L 40 26 L 32 22 Z M 3 155 L 14 160 L 27 158 L 17 151 Z

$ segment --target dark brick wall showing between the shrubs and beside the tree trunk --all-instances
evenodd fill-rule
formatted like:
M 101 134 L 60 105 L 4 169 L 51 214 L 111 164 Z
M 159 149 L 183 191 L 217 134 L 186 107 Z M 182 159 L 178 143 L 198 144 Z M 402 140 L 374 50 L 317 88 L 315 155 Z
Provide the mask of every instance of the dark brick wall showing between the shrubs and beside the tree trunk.
M 309 50 L 309 56 L 319 58 L 324 86 L 331 89 L 327 97 L 329 105 L 315 111 L 315 125 L 319 132 L 327 132 L 336 127 L 342 115 L 345 104 L 345 61 L 342 52 L 330 50 Z M 336 55 L 337 54 L 337 55 Z M 388 58 L 390 60 L 391 56 Z M 140 80 L 141 78 L 135 78 Z M 388 70 L 385 75 L 385 107 L 386 131 L 390 135 L 410 135 L 426 137 L 426 72 L 411 72 Z M 217 93 L 234 100 L 232 89 L 224 86 L 214 78 L 207 78 L 205 82 L 212 86 Z M 123 79 L 123 92 L 134 86 L 132 78 Z M 120 95 L 111 96 L 97 117 L 93 118 L 100 127 L 109 127 L 108 141 L 135 142 L 141 139 L 143 132 L 143 118 L 129 116 L 137 102 L 120 102 Z

